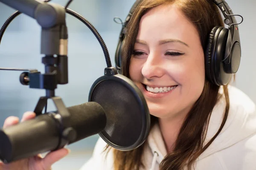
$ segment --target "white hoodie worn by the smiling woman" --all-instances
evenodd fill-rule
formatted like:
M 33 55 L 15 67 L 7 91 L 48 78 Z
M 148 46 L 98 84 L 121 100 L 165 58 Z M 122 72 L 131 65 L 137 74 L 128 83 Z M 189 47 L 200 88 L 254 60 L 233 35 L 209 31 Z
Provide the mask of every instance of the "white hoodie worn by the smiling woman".
M 223 93 L 222 89 L 220 93 Z M 256 170 L 256 108 L 251 99 L 239 89 L 229 86 L 230 111 L 221 133 L 198 157 L 195 170 Z M 224 97 L 215 105 L 210 117 L 206 142 L 219 129 L 225 109 Z M 145 170 L 159 170 L 167 155 L 158 125 L 146 140 L 143 152 Z M 113 170 L 113 153 L 105 159 L 106 143 L 100 138 L 93 156 L 80 170 Z M 141 168 L 141 170 L 143 170 Z

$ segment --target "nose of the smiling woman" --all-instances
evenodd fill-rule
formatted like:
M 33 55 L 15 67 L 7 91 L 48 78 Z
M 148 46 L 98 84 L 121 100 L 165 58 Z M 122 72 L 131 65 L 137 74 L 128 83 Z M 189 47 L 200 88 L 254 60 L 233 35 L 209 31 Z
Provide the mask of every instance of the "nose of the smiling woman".
M 142 74 L 146 79 L 155 79 L 162 77 L 164 74 L 163 59 L 156 54 L 149 54 L 145 61 Z

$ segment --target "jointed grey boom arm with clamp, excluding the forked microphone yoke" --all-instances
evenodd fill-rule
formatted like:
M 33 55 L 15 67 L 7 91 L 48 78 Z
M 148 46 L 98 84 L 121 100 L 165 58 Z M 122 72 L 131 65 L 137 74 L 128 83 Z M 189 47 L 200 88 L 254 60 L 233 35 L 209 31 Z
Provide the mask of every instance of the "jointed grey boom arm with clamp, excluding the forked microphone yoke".
M 41 26 L 41 54 L 45 73 L 32 75 L 29 88 L 44 88 L 54 96 L 57 84 L 68 83 L 66 10 L 62 6 L 38 0 L 0 0 L 34 18 Z M 56 56 L 57 57 L 54 57 Z M 51 81 L 47 79 L 51 77 Z M 38 82 L 39 81 L 39 82 Z

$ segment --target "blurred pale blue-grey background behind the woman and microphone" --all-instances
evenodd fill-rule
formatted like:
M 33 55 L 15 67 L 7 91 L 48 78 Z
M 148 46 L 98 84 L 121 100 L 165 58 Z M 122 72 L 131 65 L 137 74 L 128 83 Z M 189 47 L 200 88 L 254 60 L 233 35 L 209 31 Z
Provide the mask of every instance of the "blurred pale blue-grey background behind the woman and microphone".
M 112 65 L 119 38 L 121 25 L 113 21 L 114 17 L 125 20 L 135 0 L 73 0 L 69 8 L 81 14 L 99 31 L 105 41 Z M 240 28 L 242 58 L 236 82 L 234 85 L 256 102 L 256 1 L 226 0 L 235 14 L 244 17 Z M 67 0 L 52 0 L 65 6 Z M 0 26 L 15 10 L 0 3 Z M 240 22 L 240 17 L 237 17 Z M 69 107 L 88 101 L 88 94 L 93 82 L 104 74 L 106 62 L 99 42 L 92 32 L 77 20 L 67 14 L 68 40 L 68 74 L 69 83 L 58 85 L 55 91 L 64 104 Z M 18 16 L 7 28 L 0 44 L 0 67 L 35 68 L 44 73 L 41 63 L 40 40 L 41 28 L 36 21 L 24 14 Z M 0 71 L 0 125 L 8 116 L 18 116 L 24 112 L 33 111 L 40 96 L 45 96 L 45 90 L 30 89 L 21 85 L 21 71 Z M 49 100 L 48 111 L 55 110 Z M 99 138 L 90 136 L 71 144 L 71 153 L 66 158 L 53 165 L 53 170 L 78 170 L 91 156 L 93 147 Z M 72 163 L 70 163 L 72 162 Z

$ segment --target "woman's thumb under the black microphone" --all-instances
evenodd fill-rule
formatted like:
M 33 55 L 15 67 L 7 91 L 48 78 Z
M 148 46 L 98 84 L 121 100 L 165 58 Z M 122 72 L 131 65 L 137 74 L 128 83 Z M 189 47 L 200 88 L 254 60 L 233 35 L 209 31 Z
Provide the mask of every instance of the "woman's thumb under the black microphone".
M 44 169 L 48 169 L 54 164 L 56 161 L 64 158 L 70 153 L 70 150 L 67 148 L 61 148 L 59 150 L 55 150 L 47 153 L 47 155 L 42 159 L 42 163 L 44 165 Z

